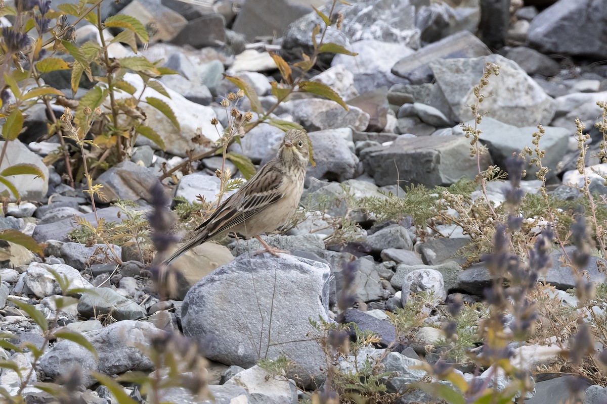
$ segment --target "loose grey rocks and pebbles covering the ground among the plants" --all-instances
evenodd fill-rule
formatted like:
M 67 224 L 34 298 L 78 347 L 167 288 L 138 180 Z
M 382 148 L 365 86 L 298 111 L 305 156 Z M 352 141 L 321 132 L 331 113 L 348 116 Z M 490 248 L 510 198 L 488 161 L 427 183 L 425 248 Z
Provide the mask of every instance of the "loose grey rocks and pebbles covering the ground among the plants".
M 130 161 L 98 177 L 109 199 L 133 200 L 138 210 L 149 210 L 152 184 L 161 168 L 179 164 L 186 150 L 205 150 L 205 146 L 192 143 L 196 128 L 202 128 L 211 140 L 217 139 L 211 118 L 217 117 L 220 126 L 228 124 L 218 101 L 236 90 L 222 73 L 240 76 L 259 94 L 262 105 L 272 105 L 276 98 L 271 95 L 270 81 L 278 76 L 268 50 L 296 61 L 302 50 L 311 47 L 310 33 L 320 22 L 310 5 L 324 5 L 320 0 L 302 1 L 301 5 L 286 0 L 238 3 L 239 7 L 223 0 L 201 5 L 178 0 L 104 3 L 106 15 L 132 15 L 157 28 L 142 53 L 150 60 L 163 59 L 166 67 L 178 71 L 178 76 L 162 79 L 171 98 L 155 96 L 172 107 L 181 125 L 175 130 L 164 116 L 146 111 L 147 124 L 163 136 L 167 150 L 155 150 L 155 145 L 140 137 Z M 577 191 L 567 186 L 582 180 L 575 171 L 574 119 L 586 122 L 591 150 L 598 150 L 601 136 L 593 124 L 602 110 L 596 102 L 607 101 L 607 68 L 592 63 L 607 59 L 607 42 L 599 35 L 607 24 L 607 8 L 602 2 L 353 3 L 351 7 L 338 5 L 344 14 L 343 29 L 330 28 L 326 39 L 358 56 L 330 58 L 323 54 L 312 78 L 334 88 L 349 110 L 323 98 L 293 97 L 274 112 L 276 118 L 297 122 L 310 133 L 316 167 L 308 169 L 304 197 L 337 201 L 344 196 L 339 184 L 347 185 L 356 197 L 382 197 L 381 191 L 404 193 L 405 185 L 434 187 L 452 184 L 461 177 L 473 178 L 476 160 L 469 158 L 469 139 L 459 124 L 472 119 L 467 105 L 474 102 L 472 87 L 487 62 L 500 65 L 501 70 L 490 79 L 486 93 L 493 96 L 482 105 L 490 111 L 481 124 L 480 139 L 490 151 L 483 156 L 483 165 L 503 165 L 507 156 L 531 146 L 535 125 L 543 124 L 546 135 L 541 148 L 546 150 L 543 164 L 551 169 L 551 189 L 563 198 L 575 197 Z M 81 22 L 76 40 L 94 39 L 94 32 Z M 115 57 L 130 52 L 119 44 L 111 47 Z M 48 84 L 69 87 L 69 76 L 53 79 Z M 141 88 L 137 75 L 127 74 L 124 79 Z M 75 98 L 85 92 L 80 89 Z M 55 107 L 56 113 L 63 112 L 63 107 Z M 249 107 L 246 99 L 240 106 L 243 111 Z M 254 256 L 251 251 L 260 246 L 251 240 L 227 246 L 206 243 L 196 248 L 176 263 L 184 278 L 175 296 L 160 300 L 135 248 L 114 247 L 123 261 L 116 264 L 107 260 L 112 254 L 105 245 L 86 246 L 68 239 L 75 215 L 92 222 L 95 214 L 81 186 L 75 189 L 62 182 L 59 164 L 46 167 L 42 162 L 58 146 L 56 137 L 36 141 L 46 133 L 46 119 L 44 105 L 33 107 L 25 120 L 27 130 L 8 146 L 12 164 L 33 163 L 46 175 L 44 179 L 15 177 L 24 202 L 8 205 L 0 217 L 0 229 L 21 230 L 46 243 L 44 259 L 18 245 L 2 245 L 0 328 L 9 332 L 17 345 L 47 345 L 47 353 L 37 363 L 28 385 L 55 380 L 76 364 L 108 375 L 152 371 L 151 360 L 134 343 L 146 345 L 160 329 L 172 329 L 205 345 L 206 356 L 214 361 L 208 378 L 215 402 L 294 403 L 298 397 L 305 398 L 303 390 L 284 378 L 267 377 L 267 371 L 256 362 L 282 354 L 292 361 L 287 377 L 308 391 L 319 388 L 326 377 L 325 353 L 307 337 L 314 331 L 309 319 L 337 319 L 355 322 L 379 335 L 376 348 L 367 348 L 365 356 L 396 372 L 398 377 L 384 383 L 389 392 L 402 393 L 425 376 L 424 371 L 411 367 L 423 360 L 431 362 L 425 347 L 443 335 L 437 328 L 424 326 L 413 340 L 399 340 L 386 311 L 402 307 L 419 291 L 433 291 L 436 306 L 456 296 L 476 302 L 491 285 L 483 262 L 462 270 L 461 259 L 453 259 L 467 242 L 467 236 L 455 226 L 439 228 L 446 238 L 431 237 L 422 242 L 410 220 L 373 223 L 373 217 L 360 213 L 352 216 L 361 225 L 359 242 L 345 249 L 327 248 L 330 243 L 324 240 L 331 234 L 327 224 L 332 217 L 346 213 L 344 205 L 334 204 L 326 213 L 307 213 L 286 235 L 266 237 L 291 255 Z M 259 165 L 273 156 L 282 134 L 270 125 L 259 125 L 233 150 Z M 594 157 L 588 165 L 607 169 Z M 192 202 L 198 195 L 213 200 L 220 186 L 214 175 L 219 167 L 219 157 L 204 159 L 194 173 L 178 173 L 176 184 L 166 180 L 167 193 Z M 232 171 L 237 171 L 236 167 Z M 595 174 L 591 177 L 592 190 L 605 193 L 603 180 Z M 523 188 L 534 193 L 540 183 L 531 178 L 534 176 L 527 176 Z M 501 183 L 490 184 L 489 195 L 494 202 L 502 202 Z M 107 221 L 120 221 L 125 216 L 118 217 L 119 211 L 101 203 L 97 214 Z M 558 251 L 553 253 L 546 282 L 557 287 L 555 296 L 563 299 L 563 304 L 577 306 L 564 292 L 575 286 L 575 278 L 571 268 L 560 267 L 559 255 Z M 62 289 L 51 270 L 66 277 L 70 287 L 78 291 Z M 605 280 L 596 259 L 585 270 L 592 281 Z M 354 301 L 351 308 L 339 313 L 337 295 L 345 287 L 352 288 Z M 93 289 L 95 294 L 86 292 Z M 69 340 L 49 344 L 24 311 L 5 302 L 9 296 L 32 305 L 58 326 L 83 333 L 97 349 L 98 360 Z M 61 310 L 58 301 L 64 305 Z M 433 315 L 430 312 L 427 325 L 432 324 Z M 388 346 L 390 353 L 385 351 Z M 549 365 L 558 350 L 545 344 L 531 345 L 517 348 L 517 354 L 526 359 L 525 366 L 534 368 Z M 29 354 L 0 348 L 0 356 L 25 369 L 32 367 Z M 350 362 L 339 366 L 347 368 Z M 461 371 L 468 379 L 483 377 L 473 375 L 470 369 Z M 537 381 L 535 395 L 527 403 L 551 402 L 550 397 L 555 397 L 551 394 L 565 385 L 566 377 Z M 11 394 L 19 390 L 21 380 L 11 369 L 0 374 L 0 385 Z M 84 402 L 117 402 L 94 379 L 85 378 L 83 385 Z M 131 388 L 129 392 L 137 397 L 137 391 Z M 29 403 L 49 402 L 46 393 L 32 386 L 23 394 Z M 606 396 L 601 386 L 592 385 L 586 390 L 584 403 L 605 403 Z M 183 389 L 172 389 L 170 399 L 175 403 L 197 402 Z M 432 400 L 414 390 L 405 392 L 398 402 Z

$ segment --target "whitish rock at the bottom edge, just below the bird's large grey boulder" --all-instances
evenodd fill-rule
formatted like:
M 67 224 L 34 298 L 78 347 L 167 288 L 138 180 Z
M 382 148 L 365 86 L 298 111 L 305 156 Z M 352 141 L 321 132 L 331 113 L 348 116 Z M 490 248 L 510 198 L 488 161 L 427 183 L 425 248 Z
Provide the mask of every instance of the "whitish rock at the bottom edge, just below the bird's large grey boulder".
M 253 404 L 297 403 L 295 386 L 285 377 L 276 377 L 257 365 L 235 374 L 225 385 L 245 389 Z

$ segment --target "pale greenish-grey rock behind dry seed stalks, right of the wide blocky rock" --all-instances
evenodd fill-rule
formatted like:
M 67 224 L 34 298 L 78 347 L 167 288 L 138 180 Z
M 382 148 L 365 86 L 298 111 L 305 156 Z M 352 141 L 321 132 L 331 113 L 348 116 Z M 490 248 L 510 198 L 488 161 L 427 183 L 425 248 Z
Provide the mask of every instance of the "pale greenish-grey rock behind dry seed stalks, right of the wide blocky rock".
M 466 124 L 473 125 L 474 122 L 469 121 Z M 524 147 L 531 147 L 532 150 L 535 148 L 532 144 L 534 141 L 532 134 L 538 131 L 537 127 L 517 126 L 504 124 L 489 117 L 483 118 L 483 122 L 478 125 L 483 131 L 479 139 L 487 145 L 493 162 L 499 167 L 506 167 L 506 159 L 513 153 L 520 153 Z M 546 155 L 541 159 L 541 163 L 551 170 L 551 173 L 548 174 L 550 177 L 558 172 L 557 165 L 567 153 L 569 137 L 572 136 L 572 133 L 566 128 L 553 126 L 544 127 L 544 130 L 546 134 L 541 137 L 540 148 L 546 150 Z M 463 133 L 460 126 L 453 127 L 453 132 Z M 527 170 L 527 178 L 534 178 L 535 176 L 532 174 L 537 173 L 538 168 L 529 164 L 529 161 L 531 161 L 531 157 L 527 156 L 527 165 L 524 168 Z

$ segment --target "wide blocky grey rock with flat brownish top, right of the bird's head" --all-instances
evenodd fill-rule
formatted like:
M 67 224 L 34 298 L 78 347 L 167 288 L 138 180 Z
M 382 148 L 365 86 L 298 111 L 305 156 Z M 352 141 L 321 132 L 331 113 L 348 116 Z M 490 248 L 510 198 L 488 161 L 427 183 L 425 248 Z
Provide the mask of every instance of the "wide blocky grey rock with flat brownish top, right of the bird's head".
M 361 160 L 365 173 L 379 186 L 422 184 L 432 188 L 449 185 L 461 177 L 478 174 L 469 141 L 463 136 L 399 137 L 392 145 L 365 150 Z M 489 154 L 481 156 L 481 167 L 491 164 Z

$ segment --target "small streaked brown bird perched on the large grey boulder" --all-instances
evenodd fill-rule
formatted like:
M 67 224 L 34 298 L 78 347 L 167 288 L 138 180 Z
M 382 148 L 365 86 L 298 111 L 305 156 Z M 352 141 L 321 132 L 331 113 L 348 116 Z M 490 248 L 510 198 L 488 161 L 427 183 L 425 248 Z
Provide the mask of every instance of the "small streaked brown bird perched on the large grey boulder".
M 281 227 L 297 209 L 310 161 L 308 139 L 308 134 L 303 130 L 289 130 L 276 157 L 228 197 L 206 222 L 195 229 L 195 236 L 164 263 L 168 265 L 190 248 L 226 233 L 256 237 L 265 248 L 258 253 L 269 252 L 277 256 L 278 253 L 287 252 L 271 247 L 259 234 Z

